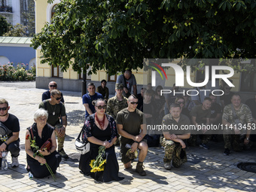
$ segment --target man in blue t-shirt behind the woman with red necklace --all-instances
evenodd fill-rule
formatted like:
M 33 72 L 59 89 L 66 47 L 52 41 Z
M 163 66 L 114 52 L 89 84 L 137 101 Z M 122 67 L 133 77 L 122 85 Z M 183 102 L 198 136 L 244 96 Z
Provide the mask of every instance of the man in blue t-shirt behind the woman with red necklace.
M 93 83 L 87 84 L 88 93 L 83 96 L 83 105 L 85 108 L 85 118 L 90 114 L 95 113 L 95 107 L 93 106 L 93 100 L 102 98 L 103 96 L 100 93 L 95 92 L 95 85 Z

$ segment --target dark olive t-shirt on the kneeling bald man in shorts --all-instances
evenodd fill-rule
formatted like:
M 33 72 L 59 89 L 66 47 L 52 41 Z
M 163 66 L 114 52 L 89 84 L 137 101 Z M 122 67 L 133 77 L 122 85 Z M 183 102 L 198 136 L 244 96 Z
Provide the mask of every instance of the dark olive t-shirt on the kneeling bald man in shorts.
M 145 122 L 145 117 L 142 111 L 136 108 L 135 111 L 130 112 L 128 108 L 123 108 L 123 110 L 117 113 L 117 124 L 123 125 L 123 130 L 126 133 L 130 133 L 133 136 L 138 136 L 141 131 L 141 125 Z M 130 142 L 130 139 L 127 139 L 121 136 L 121 143 Z

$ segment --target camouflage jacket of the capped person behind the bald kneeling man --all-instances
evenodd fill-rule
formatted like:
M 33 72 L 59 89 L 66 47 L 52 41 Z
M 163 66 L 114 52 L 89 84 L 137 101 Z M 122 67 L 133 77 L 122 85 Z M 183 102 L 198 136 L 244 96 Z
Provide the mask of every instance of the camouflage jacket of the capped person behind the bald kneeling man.
M 107 111 L 106 113 L 116 119 L 117 113 L 123 108 L 128 107 L 127 98 L 123 97 L 122 101 L 117 99 L 117 96 L 113 96 L 111 99 L 108 99 Z

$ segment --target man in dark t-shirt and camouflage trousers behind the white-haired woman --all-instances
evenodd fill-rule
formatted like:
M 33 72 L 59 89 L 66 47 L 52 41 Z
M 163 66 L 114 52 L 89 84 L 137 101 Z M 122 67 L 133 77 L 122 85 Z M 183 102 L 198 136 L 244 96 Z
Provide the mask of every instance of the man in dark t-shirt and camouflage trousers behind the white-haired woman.
M 68 158 L 69 156 L 63 149 L 67 126 L 66 109 L 62 102 L 60 102 L 60 99 L 62 99 L 61 92 L 59 90 L 52 90 L 50 92 L 50 99 L 41 102 L 39 108 L 44 108 L 48 112 L 47 123 L 55 127 L 55 133 L 58 137 L 58 152 L 63 158 Z M 62 118 L 62 124 L 60 124 L 59 118 Z

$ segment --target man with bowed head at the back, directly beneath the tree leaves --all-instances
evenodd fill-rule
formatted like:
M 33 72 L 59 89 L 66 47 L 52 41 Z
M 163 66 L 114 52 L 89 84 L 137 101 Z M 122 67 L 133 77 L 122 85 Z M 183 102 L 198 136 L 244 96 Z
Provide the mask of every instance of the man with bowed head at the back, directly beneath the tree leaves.
M 123 96 L 128 98 L 132 94 L 132 87 L 133 87 L 133 94 L 137 95 L 137 83 L 136 78 L 132 74 L 130 69 L 127 69 L 123 75 L 119 75 L 117 78 L 117 84 L 123 84 Z

